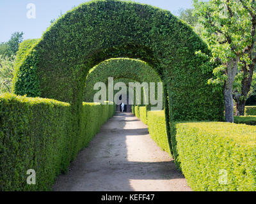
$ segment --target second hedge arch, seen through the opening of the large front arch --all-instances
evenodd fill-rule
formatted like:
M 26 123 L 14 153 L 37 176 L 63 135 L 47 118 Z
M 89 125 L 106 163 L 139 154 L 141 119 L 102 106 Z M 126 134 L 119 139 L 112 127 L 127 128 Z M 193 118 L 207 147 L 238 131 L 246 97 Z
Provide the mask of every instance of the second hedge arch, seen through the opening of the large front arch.
M 93 90 L 94 85 L 97 82 L 103 82 L 108 85 L 109 77 L 113 77 L 114 80 L 118 78 L 130 78 L 140 83 L 147 82 L 148 85 L 150 82 L 154 82 L 156 83 L 156 88 L 157 82 L 161 82 L 156 71 L 148 66 L 146 62 L 129 58 L 108 59 L 90 70 L 85 83 L 84 101 L 93 102 L 93 96 L 97 92 Z M 125 80 L 125 82 L 129 83 L 129 80 Z M 127 85 L 129 86 L 129 84 Z

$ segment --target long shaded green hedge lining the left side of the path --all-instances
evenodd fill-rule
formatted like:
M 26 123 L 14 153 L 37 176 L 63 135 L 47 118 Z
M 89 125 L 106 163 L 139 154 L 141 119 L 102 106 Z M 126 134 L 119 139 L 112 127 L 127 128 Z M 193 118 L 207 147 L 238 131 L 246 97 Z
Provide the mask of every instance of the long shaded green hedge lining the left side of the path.
M 83 105 L 78 135 L 68 103 L 13 94 L 0 96 L 0 191 L 45 191 L 67 171 L 73 152 L 83 149 L 111 117 L 113 105 Z M 110 115 L 109 115 L 110 113 Z M 27 170 L 36 171 L 28 185 Z

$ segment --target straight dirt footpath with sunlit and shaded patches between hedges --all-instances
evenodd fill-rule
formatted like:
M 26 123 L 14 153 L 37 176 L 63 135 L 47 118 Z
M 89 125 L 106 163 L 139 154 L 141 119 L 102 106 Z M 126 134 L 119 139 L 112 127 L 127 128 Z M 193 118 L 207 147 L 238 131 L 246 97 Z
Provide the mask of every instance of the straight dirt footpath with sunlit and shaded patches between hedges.
M 143 122 L 117 113 L 81 151 L 54 191 L 191 191 Z

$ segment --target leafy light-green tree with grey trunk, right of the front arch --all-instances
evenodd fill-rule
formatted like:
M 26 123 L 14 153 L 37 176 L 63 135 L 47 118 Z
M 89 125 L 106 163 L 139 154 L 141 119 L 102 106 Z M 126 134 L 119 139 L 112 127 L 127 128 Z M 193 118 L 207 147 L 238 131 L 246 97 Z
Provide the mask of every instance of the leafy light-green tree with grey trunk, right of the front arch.
M 202 36 L 212 50 L 212 61 L 220 63 L 214 69 L 215 78 L 210 79 L 209 84 L 224 86 L 226 121 L 234 122 L 233 85 L 236 75 L 243 69 L 244 73 L 245 69 L 250 73 L 256 62 L 256 57 L 253 57 L 255 1 L 193 1 L 198 22 L 202 25 Z M 248 76 L 247 86 L 252 82 L 251 73 Z

